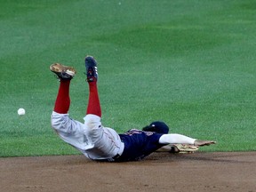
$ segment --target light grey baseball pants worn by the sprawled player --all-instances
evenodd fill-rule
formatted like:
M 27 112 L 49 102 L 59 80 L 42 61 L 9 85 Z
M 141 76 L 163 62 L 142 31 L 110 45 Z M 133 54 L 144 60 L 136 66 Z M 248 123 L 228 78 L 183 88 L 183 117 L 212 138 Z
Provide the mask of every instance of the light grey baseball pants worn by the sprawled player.
M 100 116 L 84 116 L 84 124 L 71 119 L 68 114 L 52 112 L 52 128 L 60 138 L 92 160 L 111 161 L 121 156 L 124 143 L 118 133 L 100 123 Z

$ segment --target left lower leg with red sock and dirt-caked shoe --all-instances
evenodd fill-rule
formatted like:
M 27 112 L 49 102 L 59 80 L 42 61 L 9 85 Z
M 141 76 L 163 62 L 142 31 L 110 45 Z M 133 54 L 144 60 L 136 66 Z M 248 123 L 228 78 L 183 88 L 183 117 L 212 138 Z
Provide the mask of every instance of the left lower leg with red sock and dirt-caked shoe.
M 50 69 L 55 73 L 60 81 L 59 91 L 55 100 L 54 112 L 67 114 L 70 106 L 69 84 L 73 76 L 76 75 L 75 68 L 63 66 L 60 63 L 53 63 Z

